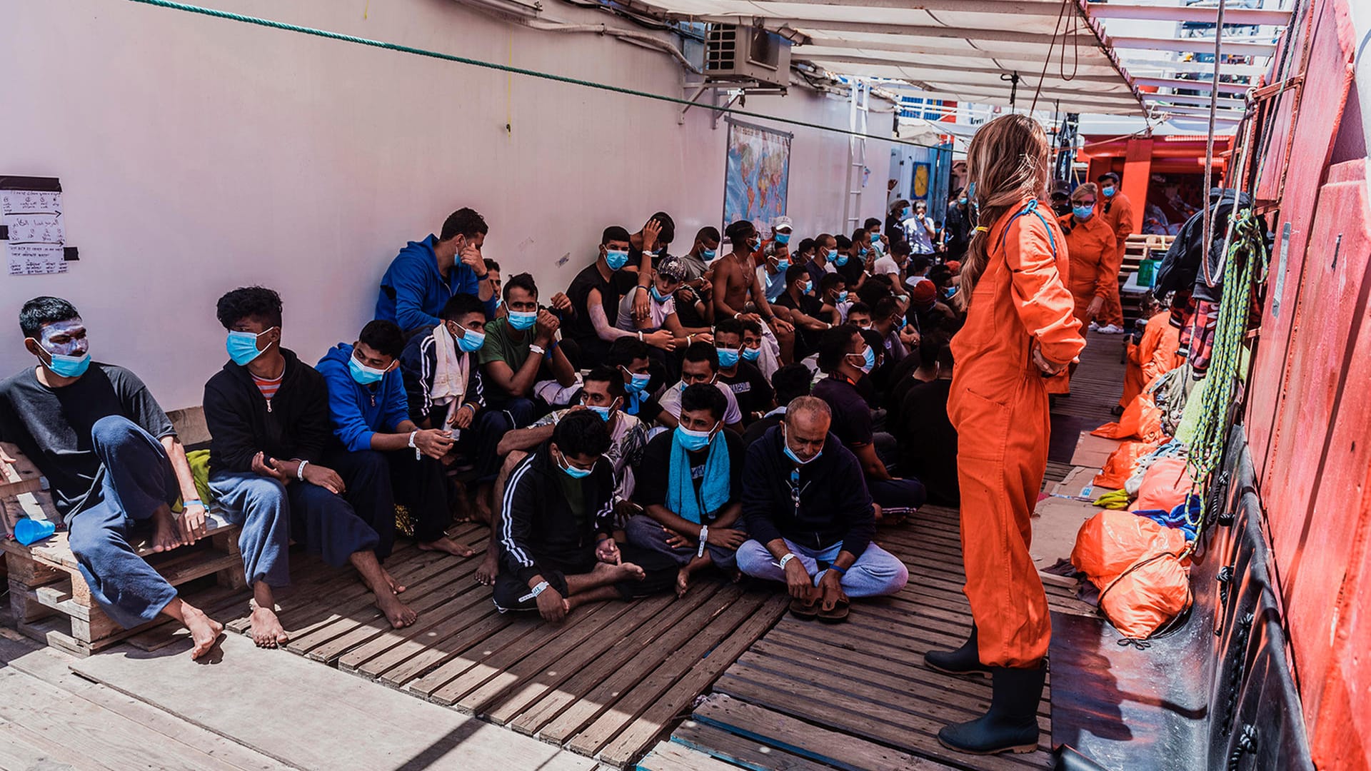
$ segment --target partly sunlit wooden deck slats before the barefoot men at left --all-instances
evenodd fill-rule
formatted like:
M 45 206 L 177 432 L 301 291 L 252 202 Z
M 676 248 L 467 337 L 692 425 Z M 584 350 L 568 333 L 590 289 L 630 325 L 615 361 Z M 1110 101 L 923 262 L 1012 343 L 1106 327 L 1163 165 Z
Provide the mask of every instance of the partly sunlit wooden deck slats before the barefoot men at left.
M 277 601 L 291 635 L 285 650 L 625 768 L 788 602 L 772 587 L 703 573 L 683 598 L 596 602 L 547 624 L 536 613 L 498 612 L 491 589 L 476 582 L 488 528 L 461 524 L 450 535 L 481 553 L 457 558 L 398 545 L 387 561 L 420 613 L 403 630 L 389 627 L 351 569 L 292 554 L 293 589 Z M 228 630 L 250 631 L 244 595 L 204 597 Z

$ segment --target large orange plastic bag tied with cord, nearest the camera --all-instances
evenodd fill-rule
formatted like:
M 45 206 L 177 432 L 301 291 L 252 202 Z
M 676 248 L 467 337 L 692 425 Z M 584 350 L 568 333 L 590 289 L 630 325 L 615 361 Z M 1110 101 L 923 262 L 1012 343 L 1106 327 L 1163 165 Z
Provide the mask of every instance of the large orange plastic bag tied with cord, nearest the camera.
M 1080 525 L 1071 564 L 1100 587 L 1109 623 L 1145 639 L 1190 606 L 1190 578 L 1179 558 L 1185 549 L 1179 530 L 1106 509 Z

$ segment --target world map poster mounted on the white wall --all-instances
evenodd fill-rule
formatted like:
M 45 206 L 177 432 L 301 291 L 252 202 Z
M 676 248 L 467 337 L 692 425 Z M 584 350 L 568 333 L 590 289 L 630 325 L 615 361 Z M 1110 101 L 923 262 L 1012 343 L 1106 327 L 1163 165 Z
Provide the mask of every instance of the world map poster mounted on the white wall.
M 786 214 L 792 134 L 728 122 L 728 165 L 724 169 L 724 225 L 750 220 L 764 233 Z

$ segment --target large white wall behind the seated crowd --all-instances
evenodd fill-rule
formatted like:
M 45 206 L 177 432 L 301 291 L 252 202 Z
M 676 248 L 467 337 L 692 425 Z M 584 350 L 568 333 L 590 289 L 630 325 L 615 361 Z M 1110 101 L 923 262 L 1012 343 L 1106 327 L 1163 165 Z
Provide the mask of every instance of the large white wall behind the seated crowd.
M 206 4 L 681 95 L 662 54 L 448 0 Z M 610 19 L 548 5 L 565 21 Z M 485 255 L 506 274 L 532 270 L 544 295 L 605 225 L 632 230 L 661 209 L 680 243 L 723 211 L 725 123 L 713 130 L 692 108 L 677 125 L 680 108 L 661 102 L 119 0 L 4 0 L 0 71 L 0 174 L 60 177 L 81 250 L 67 274 L 0 274 L 0 320 L 36 295 L 69 298 L 93 355 L 133 368 L 167 409 L 199 403 L 225 361 L 214 300 L 233 287 L 280 291 L 285 346 L 313 362 L 372 318 L 398 248 L 461 206 L 489 222 Z M 847 123 L 845 100 L 798 89 L 747 110 Z M 839 228 L 847 137 L 779 128 L 795 133 L 797 229 Z M 883 213 L 888 150 L 868 145 L 879 166 L 864 217 Z M 32 364 L 10 324 L 0 372 Z

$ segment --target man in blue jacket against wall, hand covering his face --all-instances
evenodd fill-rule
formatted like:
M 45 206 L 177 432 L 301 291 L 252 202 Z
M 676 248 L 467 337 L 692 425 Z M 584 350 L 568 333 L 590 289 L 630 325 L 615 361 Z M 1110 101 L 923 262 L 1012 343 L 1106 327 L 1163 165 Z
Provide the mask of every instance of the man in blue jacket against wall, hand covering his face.
M 443 222 L 439 236 L 406 244 L 381 277 L 376 318 L 404 332 L 432 329 L 441 324 L 443 303 L 458 294 L 481 298 L 485 316 L 495 318 L 495 291 L 481 258 L 488 230 L 480 214 L 463 207 Z

